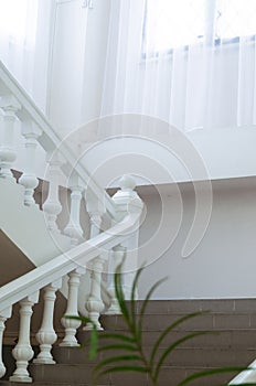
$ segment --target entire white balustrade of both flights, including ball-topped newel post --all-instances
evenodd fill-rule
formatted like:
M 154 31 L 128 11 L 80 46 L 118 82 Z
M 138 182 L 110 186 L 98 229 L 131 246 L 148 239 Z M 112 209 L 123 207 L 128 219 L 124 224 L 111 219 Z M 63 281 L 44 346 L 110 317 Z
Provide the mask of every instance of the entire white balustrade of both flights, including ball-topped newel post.
M 142 211 L 142 202 L 134 192 L 135 182 L 129 176 L 121 179 L 121 190 L 110 197 L 88 175 L 85 168 L 77 162 L 75 154 L 62 143 L 51 124 L 34 105 L 33 100 L 17 83 L 0 62 L 0 114 L 1 119 L 1 144 L 0 144 L 0 179 L 6 179 L 10 185 L 17 180 L 12 173 L 12 165 L 17 157 L 13 146 L 15 135 L 15 121 L 21 125 L 21 135 L 24 137 L 26 165 L 19 183 L 24 186 L 23 203 L 34 206 L 34 190 L 39 180 L 34 170 L 36 158 L 36 146 L 40 144 L 47 154 L 49 163 L 49 192 L 43 203 L 49 232 L 54 237 L 60 233 L 56 219 L 63 207 L 60 202 L 58 179 L 64 172 L 68 178 L 71 190 L 71 208 L 67 225 L 62 232 L 71 238 L 70 250 L 41 265 L 26 275 L 9 282 L 0 288 L 0 377 L 6 374 L 6 365 L 2 361 L 2 342 L 7 319 L 11 318 L 12 305 L 20 303 L 20 329 L 19 339 L 12 351 L 17 368 L 10 377 L 11 382 L 31 382 L 28 372 L 29 361 L 33 358 L 33 350 L 30 344 L 30 324 L 33 305 L 39 301 L 40 290 L 44 291 L 44 311 L 42 324 L 36 334 L 40 345 L 40 354 L 34 358 L 35 363 L 54 364 L 51 350 L 57 336 L 53 328 L 53 312 L 55 293 L 62 287 L 62 280 L 68 276 L 67 307 L 65 314 L 77 315 L 78 289 L 81 279 L 84 280 L 85 270 L 89 262 L 92 271 L 90 287 L 86 298 L 85 309 L 89 318 L 102 329 L 99 315 L 105 308 L 102 299 L 102 274 L 104 269 L 109 274 L 109 267 L 115 270 L 115 265 L 129 251 L 129 246 L 135 248 L 135 239 L 138 239 L 138 225 Z M 57 151 L 56 151 L 57 149 Z M 88 183 L 89 182 L 89 183 Z M 85 193 L 86 211 L 90 221 L 90 238 L 84 242 L 83 224 L 81 222 L 81 204 Z M 11 205 L 11 203 L 10 203 Z M 104 213 L 110 215 L 110 225 L 106 232 L 102 232 Z M 39 246 L 40 247 L 40 246 Z M 113 261 L 108 261 L 111 256 Z M 132 262 L 127 267 L 135 270 L 135 251 L 132 250 Z M 126 261 L 129 261 L 129 258 Z M 132 265 L 132 266 L 131 266 Z M 130 275 L 127 279 L 127 288 L 131 287 Z M 86 296 L 86 294 L 85 294 Z M 113 286 L 109 286 L 110 313 L 118 312 Z M 76 330 L 79 326 L 77 320 L 62 318 L 65 336 L 62 346 L 75 346 Z M 87 325 L 89 330 L 92 325 Z

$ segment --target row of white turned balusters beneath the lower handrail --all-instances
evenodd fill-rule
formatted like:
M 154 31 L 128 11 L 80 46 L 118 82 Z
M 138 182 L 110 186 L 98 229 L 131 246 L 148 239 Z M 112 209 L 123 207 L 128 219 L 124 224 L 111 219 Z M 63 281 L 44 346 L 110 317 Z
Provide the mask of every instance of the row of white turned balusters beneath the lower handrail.
M 115 254 L 115 261 L 121 261 L 125 254 L 125 248 L 122 246 L 117 246 L 114 248 L 113 254 Z M 102 274 L 105 260 L 100 257 L 95 258 L 93 261 L 92 269 L 92 286 L 86 301 L 86 308 L 88 311 L 88 318 L 97 326 L 98 330 L 102 330 L 99 322 L 99 317 L 102 311 L 105 308 L 105 304 L 102 299 Z M 85 275 L 85 269 L 79 267 L 68 274 L 68 293 L 67 293 L 67 305 L 66 311 L 61 323 L 65 330 L 64 337 L 60 343 L 60 346 L 78 346 L 76 340 L 77 329 L 81 326 L 81 320 L 66 318 L 68 315 L 78 317 L 78 289 L 81 278 Z M 41 328 L 35 334 L 35 339 L 40 346 L 40 352 L 38 356 L 33 360 L 33 363 L 36 364 L 55 364 L 55 361 L 52 356 L 52 346 L 57 341 L 57 334 L 54 331 L 54 304 L 56 299 L 56 291 L 62 288 L 62 279 L 58 279 L 54 282 L 49 283 L 43 288 L 43 314 Z M 117 299 L 115 297 L 114 285 L 110 283 L 108 289 L 110 307 L 107 313 L 116 314 L 119 313 L 119 307 Z M 18 343 L 12 350 L 12 355 L 15 360 L 17 368 L 13 375 L 9 378 L 11 382 L 31 382 L 31 377 L 28 371 L 29 362 L 34 357 L 34 352 L 31 346 L 31 317 L 33 313 L 33 305 L 39 301 L 39 291 L 33 294 L 28 296 L 25 299 L 22 299 L 20 304 L 20 328 L 19 328 L 19 339 Z M 6 374 L 6 366 L 2 360 L 2 343 L 3 343 L 3 332 L 6 326 L 6 321 L 11 318 L 12 307 L 8 308 L 4 311 L 0 311 L 0 378 Z M 87 323 L 84 329 L 92 330 L 93 323 Z

